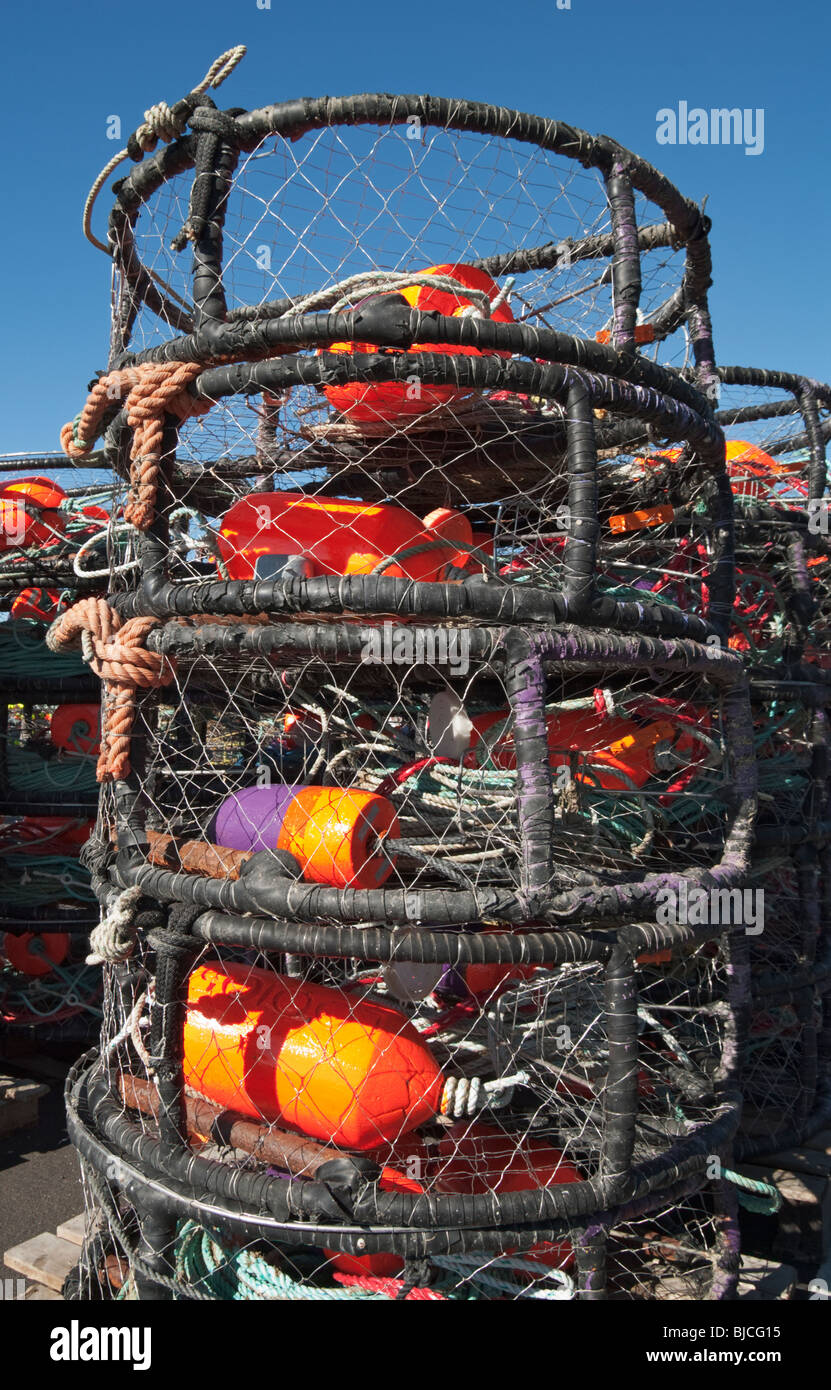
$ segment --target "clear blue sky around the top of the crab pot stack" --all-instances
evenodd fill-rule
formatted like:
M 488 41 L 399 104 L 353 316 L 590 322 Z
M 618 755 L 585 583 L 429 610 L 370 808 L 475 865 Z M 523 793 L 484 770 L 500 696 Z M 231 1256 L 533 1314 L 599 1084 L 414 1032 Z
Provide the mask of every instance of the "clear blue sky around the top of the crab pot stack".
M 825 0 L 7 6 L 0 452 L 56 449 L 106 366 L 110 265 L 81 207 L 117 147 L 107 117 L 135 129 L 235 43 L 249 54 L 222 106 L 431 92 L 613 135 L 689 197 L 709 195 L 718 359 L 830 379 L 830 13 Z M 762 108 L 764 152 L 659 145 L 656 114 L 681 100 Z M 99 232 L 106 208 L 104 196 Z

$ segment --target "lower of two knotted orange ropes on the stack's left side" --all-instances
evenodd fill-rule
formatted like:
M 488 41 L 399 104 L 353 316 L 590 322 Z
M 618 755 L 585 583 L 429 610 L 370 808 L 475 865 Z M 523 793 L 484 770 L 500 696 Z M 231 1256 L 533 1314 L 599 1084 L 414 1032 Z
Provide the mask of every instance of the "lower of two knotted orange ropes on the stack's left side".
M 101 702 L 101 751 L 96 776 L 117 781 L 129 771 L 129 744 L 139 689 L 170 685 L 175 667 L 165 656 L 145 648 L 154 617 L 132 617 L 121 626 L 120 614 L 106 599 L 79 599 L 54 620 L 46 634 L 53 652 L 82 648 L 85 660 L 104 682 Z M 118 635 L 117 635 L 118 634 Z

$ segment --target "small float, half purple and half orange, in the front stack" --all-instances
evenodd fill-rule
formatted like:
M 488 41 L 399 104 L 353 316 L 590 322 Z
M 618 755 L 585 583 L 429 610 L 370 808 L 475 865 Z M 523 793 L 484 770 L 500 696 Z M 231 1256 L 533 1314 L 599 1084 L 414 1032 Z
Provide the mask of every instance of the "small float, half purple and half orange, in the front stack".
M 224 849 L 285 849 L 308 883 L 335 888 L 379 888 L 395 865 L 381 847 L 397 837 L 386 796 L 300 784 L 245 787 L 222 802 L 208 830 Z

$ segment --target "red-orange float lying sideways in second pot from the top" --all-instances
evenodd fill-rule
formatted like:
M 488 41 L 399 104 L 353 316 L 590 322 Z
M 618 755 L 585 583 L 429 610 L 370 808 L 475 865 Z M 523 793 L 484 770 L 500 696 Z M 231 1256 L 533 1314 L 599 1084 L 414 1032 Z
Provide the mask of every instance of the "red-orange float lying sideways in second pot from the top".
M 261 492 L 236 502 L 222 517 L 220 555 L 232 580 L 267 580 L 286 567 L 304 577 L 371 574 L 382 560 L 392 578 L 438 580 L 447 566 L 464 566 L 472 543 L 461 512 L 438 507 L 421 518 L 389 503 L 310 498 L 303 492 Z

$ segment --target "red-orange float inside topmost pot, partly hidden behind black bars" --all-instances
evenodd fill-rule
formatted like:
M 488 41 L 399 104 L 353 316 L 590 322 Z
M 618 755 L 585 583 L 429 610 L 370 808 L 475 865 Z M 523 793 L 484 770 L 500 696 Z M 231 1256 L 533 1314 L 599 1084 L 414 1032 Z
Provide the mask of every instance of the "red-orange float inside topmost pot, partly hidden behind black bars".
M 488 295 L 495 306 L 491 317 L 500 324 L 513 324 L 514 316 L 506 300 L 499 300 L 499 285 L 491 279 L 485 271 L 475 265 L 429 265 L 418 275 L 449 275 L 468 289 L 478 289 Z M 459 318 L 471 313 L 471 300 L 464 295 L 453 293 L 447 289 L 434 289 L 431 285 L 404 285 L 390 293 L 400 295 L 413 309 L 422 313 L 443 314 L 446 318 Z M 365 300 L 364 300 L 365 303 Z M 357 304 L 356 307 L 360 307 Z M 375 343 L 332 343 L 328 349 L 334 353 L 374 353 L 378 352 Z M 461 348 L 457 343 L 413 343 L 409 349 L 413 353 L 452 353 L 456 357 L 510 357 L 510 352 L 482 352 L 479 348 Z M 446 406 L 474 392 L 466 386 L 441 386 L 418 382 L 413 385 L 399 381 L 359 382 L 352 381 L 343 386 L 324 386 L 327 400 L 335 406 L 340 414 L 356 423 L 395 425 L 400 420 L 411 420 L 422 416 L 436 406 Z

